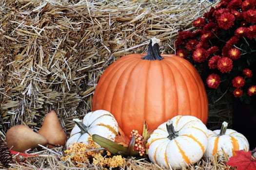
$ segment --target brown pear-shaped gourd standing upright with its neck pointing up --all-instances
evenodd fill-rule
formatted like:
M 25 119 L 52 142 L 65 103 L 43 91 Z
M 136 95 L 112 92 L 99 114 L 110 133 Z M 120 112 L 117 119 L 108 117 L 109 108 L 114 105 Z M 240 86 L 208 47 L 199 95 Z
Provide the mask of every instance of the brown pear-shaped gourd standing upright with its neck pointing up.
M 61 127 L 58 116 L 54 110 L 46 114 L 38 133 L 48 140 L 48 148 L 65 146 L 67 141 L 66 133 Z

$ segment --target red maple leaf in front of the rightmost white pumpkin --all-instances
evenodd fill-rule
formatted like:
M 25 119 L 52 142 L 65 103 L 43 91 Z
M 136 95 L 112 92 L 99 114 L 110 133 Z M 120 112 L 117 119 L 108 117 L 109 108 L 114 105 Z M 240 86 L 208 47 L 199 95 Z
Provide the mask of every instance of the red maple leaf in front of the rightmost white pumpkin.
M 256 170 L 256 159 L 252 157 L 251 151 L 235 151 L 236 156 L 232 156 L 227 165 L 237 167 L 236 170 Z

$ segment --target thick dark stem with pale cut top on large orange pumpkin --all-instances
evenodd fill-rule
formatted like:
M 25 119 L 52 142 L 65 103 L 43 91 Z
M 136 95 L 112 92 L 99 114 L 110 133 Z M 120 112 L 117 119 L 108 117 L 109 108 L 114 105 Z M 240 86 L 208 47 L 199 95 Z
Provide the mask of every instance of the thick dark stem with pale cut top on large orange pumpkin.
M 158 38 L 151 38 L 148 46 L 148 54 L 145 57 L 141 57 L 145 60 L 161 60 L 160 51 L 159 51 L 159 39 Z

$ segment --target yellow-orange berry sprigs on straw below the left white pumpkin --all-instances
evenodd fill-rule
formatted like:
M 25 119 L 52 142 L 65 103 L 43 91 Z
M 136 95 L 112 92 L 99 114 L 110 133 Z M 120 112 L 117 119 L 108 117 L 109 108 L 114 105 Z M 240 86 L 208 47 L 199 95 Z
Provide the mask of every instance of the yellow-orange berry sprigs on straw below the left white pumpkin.
M 103 150 L 99 149 L 99 145 L 96 144 L 92 137 L 87 140 L 88 144 L 79 142 L 73 143 L 70 148 L 64 151 L 66 156 L 62 156 L 61 160 L 68 160 L 75 164 L 77 167 L 82 167 L 83 163 L 89 163 L 89 158 L 93 158 L 93 164 L 98 166 L 108 166 L 110 168 L 116 168 L 123 166 L 125 160 L 121 155 L 111 156 L 111 153 L 107 151 L 105 157 L 102 156 Z

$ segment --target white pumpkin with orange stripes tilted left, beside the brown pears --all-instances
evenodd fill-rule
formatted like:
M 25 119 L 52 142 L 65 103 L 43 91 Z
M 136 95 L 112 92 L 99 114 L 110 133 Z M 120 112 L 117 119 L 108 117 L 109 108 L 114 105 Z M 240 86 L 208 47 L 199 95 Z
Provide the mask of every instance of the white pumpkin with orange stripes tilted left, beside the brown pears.
M 106 110 L 96 110 L 87 113 L 83 120 L 74 119 L 76 125 L 70 133 L 66 147 L 73 143 L 83 142 L 87 144 L 88 137 L 94 134 L 108 138 L 112 141 L 118 134 L 118 122 L 115 117 Z

